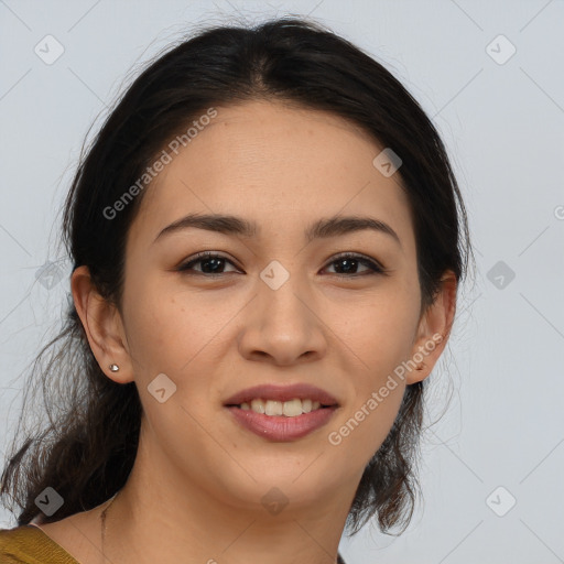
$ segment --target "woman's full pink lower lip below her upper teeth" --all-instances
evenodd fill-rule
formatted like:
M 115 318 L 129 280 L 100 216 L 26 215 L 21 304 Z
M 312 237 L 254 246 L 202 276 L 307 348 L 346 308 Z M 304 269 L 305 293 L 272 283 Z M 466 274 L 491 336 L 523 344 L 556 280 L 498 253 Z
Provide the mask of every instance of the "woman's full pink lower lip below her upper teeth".
M 264 415 L 252 410 L 241 410 L 240 408 L 227 408 L 245 429 L 252 433 L 274 442 L 288 442 L 301 438 L 317 429 L 327 424 L 337 405 L 322 408 L 302 413 L 295 417 L 284 415 Z

